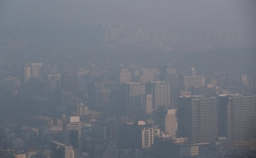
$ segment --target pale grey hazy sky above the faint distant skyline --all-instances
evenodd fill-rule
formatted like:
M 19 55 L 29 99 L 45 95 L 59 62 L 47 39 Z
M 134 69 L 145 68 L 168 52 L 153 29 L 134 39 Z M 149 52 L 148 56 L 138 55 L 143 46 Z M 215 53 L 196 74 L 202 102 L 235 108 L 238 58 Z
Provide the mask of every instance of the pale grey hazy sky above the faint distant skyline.
M 0 24 L 122 22 L 159 30 L 228 25 L 253 29 L 255 4 L 253 0 L 1 0 Z

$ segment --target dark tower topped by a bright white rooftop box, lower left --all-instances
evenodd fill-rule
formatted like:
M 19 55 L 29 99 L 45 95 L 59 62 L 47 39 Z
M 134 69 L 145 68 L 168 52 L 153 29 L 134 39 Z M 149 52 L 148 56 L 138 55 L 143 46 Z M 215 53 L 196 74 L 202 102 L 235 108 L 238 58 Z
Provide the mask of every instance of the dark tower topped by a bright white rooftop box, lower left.
M 70 117 L 63 122 L 63 141 L 76 149 L 81 148 L 81 122 L 80 117 Z

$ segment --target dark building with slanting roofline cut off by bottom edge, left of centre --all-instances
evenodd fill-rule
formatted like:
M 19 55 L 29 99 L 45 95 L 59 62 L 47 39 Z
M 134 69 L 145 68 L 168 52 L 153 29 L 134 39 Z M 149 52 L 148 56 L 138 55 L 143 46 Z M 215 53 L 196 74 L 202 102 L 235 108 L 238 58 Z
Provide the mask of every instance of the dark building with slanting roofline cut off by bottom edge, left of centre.
M 74 158 L 74 150 L 70 145 L 52 141 L 51 158 Z

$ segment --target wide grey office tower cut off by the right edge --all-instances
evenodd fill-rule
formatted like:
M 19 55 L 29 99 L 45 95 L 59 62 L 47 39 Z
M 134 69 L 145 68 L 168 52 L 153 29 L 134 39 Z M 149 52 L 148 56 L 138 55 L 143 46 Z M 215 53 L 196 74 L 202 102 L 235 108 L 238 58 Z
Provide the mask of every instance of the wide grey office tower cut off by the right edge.
M 227 105 L 227 140 L 256 138 L 256 96 L 231 95 Z

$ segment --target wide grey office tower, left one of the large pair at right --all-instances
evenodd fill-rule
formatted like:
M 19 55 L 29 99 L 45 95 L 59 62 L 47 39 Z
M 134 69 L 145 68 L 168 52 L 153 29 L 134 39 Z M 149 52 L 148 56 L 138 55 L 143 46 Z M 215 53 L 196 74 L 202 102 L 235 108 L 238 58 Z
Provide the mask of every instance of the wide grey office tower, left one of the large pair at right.
M 216 97 L 179 97 L 178 135 L 191 143 L 210 143 L 217 138 Z

